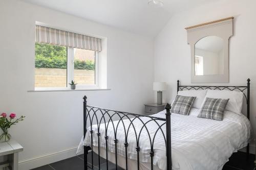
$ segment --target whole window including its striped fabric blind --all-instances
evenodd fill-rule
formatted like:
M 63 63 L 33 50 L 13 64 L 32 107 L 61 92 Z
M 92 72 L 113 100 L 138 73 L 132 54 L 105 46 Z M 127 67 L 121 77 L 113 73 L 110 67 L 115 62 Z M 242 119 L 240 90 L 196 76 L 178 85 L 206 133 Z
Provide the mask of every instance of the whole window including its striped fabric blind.
M 35 88 L 98 88 L 100 52 L 99 38 L 36 26 Z

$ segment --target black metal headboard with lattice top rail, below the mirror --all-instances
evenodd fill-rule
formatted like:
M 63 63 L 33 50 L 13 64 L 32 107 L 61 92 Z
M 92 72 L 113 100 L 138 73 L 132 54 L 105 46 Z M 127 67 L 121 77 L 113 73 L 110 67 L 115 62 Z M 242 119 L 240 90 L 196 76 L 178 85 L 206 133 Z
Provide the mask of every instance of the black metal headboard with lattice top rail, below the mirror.
M 247 104 L 247 118 L 250 119 L 250 79 L 247 79 L 246 86 L 181 86 L 180 81 L 177 81 L 177 92 L 183 90 L 236 90 L 244 93 Z M 249 154 L 249 144 L 247 145 L 247 156 Z

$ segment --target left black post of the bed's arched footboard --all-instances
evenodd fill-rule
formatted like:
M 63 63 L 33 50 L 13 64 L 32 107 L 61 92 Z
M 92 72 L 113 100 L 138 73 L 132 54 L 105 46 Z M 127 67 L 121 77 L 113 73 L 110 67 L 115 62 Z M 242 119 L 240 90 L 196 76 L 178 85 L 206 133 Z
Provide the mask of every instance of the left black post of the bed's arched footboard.
M 86 127 L 86 122 L 87 122 L 87 96 L 83 96 L 83 139 L 86 138 L 86 132 L 87 132 L 87 127 Z M 88 151 L 91 150 L 91 147 L 89 146 L 84 146 L 83 147 L 83 166 L 84 169 L 87 170 L 87 155 Z

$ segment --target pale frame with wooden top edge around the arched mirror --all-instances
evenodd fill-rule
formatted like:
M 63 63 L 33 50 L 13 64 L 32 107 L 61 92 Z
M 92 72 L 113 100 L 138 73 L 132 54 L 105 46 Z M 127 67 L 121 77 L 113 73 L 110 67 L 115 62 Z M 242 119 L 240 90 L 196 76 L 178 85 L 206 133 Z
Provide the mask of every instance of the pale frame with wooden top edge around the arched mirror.
M 233 35 L 233 17 L 203 23 L 185 28 L 187 43 L 191 48 L 191 83 L 228 83 L 229 82 L 229 38 Z M 195 44 L 207 36 L 218 36 L 224 40 L 224 74 L 200 75 L 195 74 Z

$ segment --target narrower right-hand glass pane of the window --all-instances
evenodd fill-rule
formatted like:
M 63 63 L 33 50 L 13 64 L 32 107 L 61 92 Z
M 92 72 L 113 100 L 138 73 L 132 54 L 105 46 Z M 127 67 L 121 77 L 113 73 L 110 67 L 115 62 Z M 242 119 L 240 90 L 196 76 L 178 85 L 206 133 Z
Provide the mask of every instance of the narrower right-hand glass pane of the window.
M 78 85 L 95 84 L 95 51 L 75 48 L 74 81 Z

